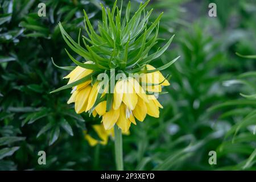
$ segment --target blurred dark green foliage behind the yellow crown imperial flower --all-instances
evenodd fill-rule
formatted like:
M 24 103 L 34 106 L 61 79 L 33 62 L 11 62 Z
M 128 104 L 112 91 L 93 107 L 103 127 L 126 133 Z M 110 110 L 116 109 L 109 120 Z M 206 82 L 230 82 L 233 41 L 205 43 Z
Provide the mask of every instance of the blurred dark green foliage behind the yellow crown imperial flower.
M 38 4 L 46 3 L 46 17 Z M 54 67 L 70 65 L 58 22 L 76 40 L 85 35 L 85 10 L 96 27 L 101 0 L 0 0 L 0 170 L 109 170 L 114 144 L 90 147 L 83 130 L 96 136 L 98 118 L 77 115 L 66 82 Z M 123 0 L 123 7 L 128 1 Z M 133 10 L 139 2 L 131 1 Z M 208 5 L 217 5 L 217 17 Z M 119 5 L 121 1 L 118 1 Z M 159 37 L 176 34 L 155 66 L 181 56 L 164 71 L 168 94 L 160 96 L 160 118 L 147 117 L 123 136 L 127 170 L 256 169 L 256 2 L 254 0 L 151 0 L 152 20 L 164 11 Z M 164 43 L 162 40 L 160 43 Z M 77 56 L 77 55 L 76 55 Z M 81 59 L 81 57 L 77 57 Z M 47 164 L 38 164 L 38 151 Z M 209 151 L 217 164 L 208 163 Z

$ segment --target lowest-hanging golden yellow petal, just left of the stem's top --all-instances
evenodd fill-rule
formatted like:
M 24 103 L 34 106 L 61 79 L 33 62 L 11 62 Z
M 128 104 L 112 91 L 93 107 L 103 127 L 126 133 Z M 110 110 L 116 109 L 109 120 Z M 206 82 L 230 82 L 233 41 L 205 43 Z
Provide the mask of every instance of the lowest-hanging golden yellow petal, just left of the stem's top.
M 119 118 L 119 112 L 120 110 L 114 110 L 113 108 L 110 109 L 107 113 L 102 115 L 102 122 L 105 127 L 105 130 L 112 129 L 112 127 L 117 122 L 117 119 Z

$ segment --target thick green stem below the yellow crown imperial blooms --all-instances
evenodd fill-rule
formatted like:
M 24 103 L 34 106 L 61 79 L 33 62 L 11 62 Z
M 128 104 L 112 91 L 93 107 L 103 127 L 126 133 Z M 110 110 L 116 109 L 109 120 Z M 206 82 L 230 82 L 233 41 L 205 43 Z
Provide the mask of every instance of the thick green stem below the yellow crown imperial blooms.
M 123 171 L 123 141 L 122 130 L 118 129 L 118 126 L 114 126 L 115 130 L 115 164 L 118 171 Z

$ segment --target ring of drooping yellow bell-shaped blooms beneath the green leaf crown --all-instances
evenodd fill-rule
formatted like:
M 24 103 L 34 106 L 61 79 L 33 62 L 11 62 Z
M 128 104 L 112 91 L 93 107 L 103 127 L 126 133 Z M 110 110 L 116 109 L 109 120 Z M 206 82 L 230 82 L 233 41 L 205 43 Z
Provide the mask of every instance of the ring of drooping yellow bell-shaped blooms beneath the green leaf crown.
M 147 65 L 146 67 L 149 70 L 155 69 L 151 65 Z M 89 69 L 76 67 L 64 78 L 69 78 L 70 83 L 88 76 L 90 73 L 92 71 Z M 78 114 L 92 110 L 94 117 L 96 115 L 102 116 L 102 122 L 106 130 L 112 129 L 116 123 L 122 131 L 127 132 L 131 123 L 136 125 L 135 118 L 138 121 L 143 121 L 146 114 L 156 118 L 159 117 L 159 107 L 163 108 L 163 106 L 153 94 L 147 95 L 146 92 L 161 92 L 161 86 L 170 85 L 159 71 L 143 73 L 139 78 L 148 81 L 148 84 L 156 84 L 156 86 L 146 84 L 146 89 L 143 89 L 133 77 L 118 80 L 115 83 L 113 104 L 109 111 L 106 111 L 107 101 L 96 104 L 101 85 L 99 81 L 91 85 L 92 80 L 88 80 L 75 86 L 72 90 L 72 96 L 68 100 L 68 104 L 75 102 L 75 110 Z M 102 94 L 102 96 L 105 95 Z

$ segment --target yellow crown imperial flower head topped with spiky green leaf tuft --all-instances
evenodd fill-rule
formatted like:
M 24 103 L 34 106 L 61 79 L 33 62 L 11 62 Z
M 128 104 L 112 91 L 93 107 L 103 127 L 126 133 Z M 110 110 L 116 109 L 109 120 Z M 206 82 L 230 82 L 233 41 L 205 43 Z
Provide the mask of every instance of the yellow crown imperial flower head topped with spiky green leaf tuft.
M 53 92 L 72 88 L 68 104 L 75 102 L 78 114 L 88 112 L 94 117 L 102 117 L 105 130 L 112 130 L 116 124 L 123 132 L 128 132 L 131 123 L 136 125 L 135 119 L 142 122 L 147 114 L 158 118 L 159 107 L 163 108 L 156 95 L 163 93 L 162 86 L 170 83 L 160 71 L 170 67 L 179 57 L 159 68 L 150 65 L 166 51 L 174 36 L 158 51 L 150 53 L 159 40 L 162 14 L 149 24 L 152 10 L 147 13 L 144 10 L 148 2 L 141 3 L 131 18 L 130 2 L 123 18 L 122 7 L 118 9 L 117 1 L 111 11 L 101 5 L 102 22 L 98 23 L 97 32 L 84 12 L 87 32 L 87 36 L 82 36 L 84 47 L 80 44 L 81 31 L 76 43 L 59 23 L 69 48 L 85 61 L 76 60 L 66 49 L 77 67 L 59 67 L 72 71 L 64 77 L 69 79 L 68 84 Z

